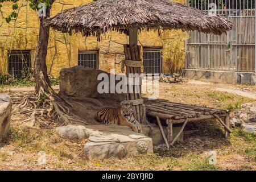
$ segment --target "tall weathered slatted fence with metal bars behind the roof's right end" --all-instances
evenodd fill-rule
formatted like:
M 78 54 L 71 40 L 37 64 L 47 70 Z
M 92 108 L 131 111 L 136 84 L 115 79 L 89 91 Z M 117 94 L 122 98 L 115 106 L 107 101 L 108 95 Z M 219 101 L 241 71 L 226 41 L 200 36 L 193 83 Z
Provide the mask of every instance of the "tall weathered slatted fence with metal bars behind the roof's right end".
M 255 1 L 187 0 L 187 5 L 209 12 L 216 3 L 216 13 L 235 26 L 226 35 L 190 32 L 187 41 L 187 68 L 255 72 Z

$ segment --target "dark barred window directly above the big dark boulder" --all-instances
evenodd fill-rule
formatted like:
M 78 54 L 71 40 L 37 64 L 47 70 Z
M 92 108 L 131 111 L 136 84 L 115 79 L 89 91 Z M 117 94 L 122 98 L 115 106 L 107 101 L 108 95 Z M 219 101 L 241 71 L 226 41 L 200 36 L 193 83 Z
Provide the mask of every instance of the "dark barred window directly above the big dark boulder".
M 97 69 L 97 60 L 97 51 L 79 51 L 78 65 L 81 65 L 85 68 Z

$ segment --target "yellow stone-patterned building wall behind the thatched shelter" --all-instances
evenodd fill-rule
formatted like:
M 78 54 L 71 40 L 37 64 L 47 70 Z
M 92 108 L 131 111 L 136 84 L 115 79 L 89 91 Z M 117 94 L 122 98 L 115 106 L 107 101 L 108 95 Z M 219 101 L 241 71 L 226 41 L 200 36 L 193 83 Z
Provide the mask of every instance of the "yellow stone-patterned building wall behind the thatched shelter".
M 184 0 L 176 1 L 184 3 Z M 92 0 L 56 0 L 53 3 L 51 16 L 88 2 Z M 12 3 L 9 2 L 4 3 L 0 9 L 0 73 L 7 72 L 7 51 L 9 50 L 31 50 L 33 62 L 38 40 L 39 20 L 36 11 L 30 9 L 27 1 L 20 0 L 18 18 L 6 23 L 4 17 L 11 12 L 11 5 Z M 163 57 L 165 57 L 164 52 L 168 48 L 168 42 L 174 41 L 176 36 L 185 38 L 186 34 L 176 30 L 164 31 L 159 37 L 157 31 L 141 32 L 139 44 L 144 47 L 163 47 Z M 101 42 L 97 42 L 95 37 L 69 36 L 51 30 L 47 54 L 48 73 L 53 76 L 59 75 L 60 69 L 77 65 L 78 51 L 92 50 L 98 50 L 100 53 L 99 69 L 109 71 L 110 68 L 117 68 L 120 72 L 121 64 L 115 63 L 124 59 L 122 44 L 128 43 L 129 38 L 117 32 L 108 32 L 102 36 Z M 184 47 L 181 46 L 181 48 Z

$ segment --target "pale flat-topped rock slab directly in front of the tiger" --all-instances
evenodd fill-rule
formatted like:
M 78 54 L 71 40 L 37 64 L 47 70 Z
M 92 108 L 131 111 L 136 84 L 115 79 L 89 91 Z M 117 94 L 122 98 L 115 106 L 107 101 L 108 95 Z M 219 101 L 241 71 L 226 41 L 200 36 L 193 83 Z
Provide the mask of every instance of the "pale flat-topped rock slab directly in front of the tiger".
M 119 125 L 68 125 L 56 128 L 65 138 L 89 138 L 84 154 L 89 159 L 117 157 L 127 154 L 148 154 L 153 152 L 152 139 L 134 133 L 128 126 Z

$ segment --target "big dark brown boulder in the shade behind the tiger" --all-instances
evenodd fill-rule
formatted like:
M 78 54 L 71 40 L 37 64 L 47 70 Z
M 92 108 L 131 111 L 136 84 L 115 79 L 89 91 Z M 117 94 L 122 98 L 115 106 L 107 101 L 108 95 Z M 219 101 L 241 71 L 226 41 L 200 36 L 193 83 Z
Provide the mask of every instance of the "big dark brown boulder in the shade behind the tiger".
M 92 97 L 92 98 L 110 98 L 117 101 L 125 100 L 124 94 L 116 93 L 98 93 L 98 84 L 101 80 L 97 80 L 98 75 L 105 73 L 109 77 L 110 92 L 110 73 L 76 66 L 72 68 L 61 69 L 60 71 L 60 93 L 67 96 L 75 97 Z M 112 75 L 113 76 L 113 75 Z M 115 81 L 117 82 L 117 81 Z

